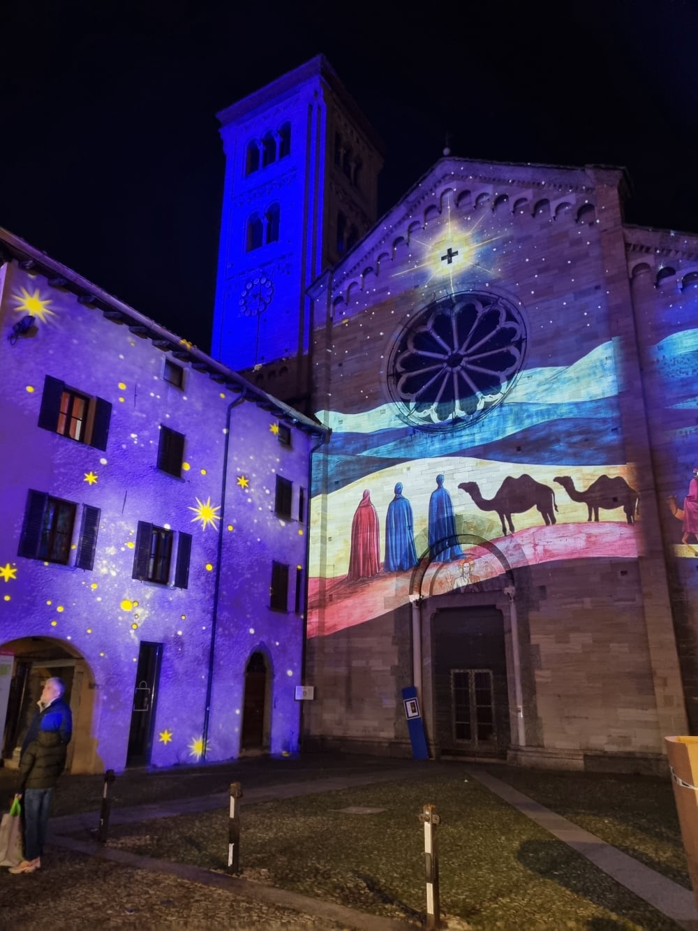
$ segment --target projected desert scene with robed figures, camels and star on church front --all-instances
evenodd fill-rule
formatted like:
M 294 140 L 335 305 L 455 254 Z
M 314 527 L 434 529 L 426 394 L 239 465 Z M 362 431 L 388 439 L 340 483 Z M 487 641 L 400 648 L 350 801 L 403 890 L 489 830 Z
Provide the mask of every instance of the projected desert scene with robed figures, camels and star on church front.
M 642 549 L 620 348 L 588 278 L 594 209 L 578 194 L 536 204 L 470 181 L 427 197 L 436 207 L 408 198 L 393 238 L 369 243 L 362 287 L 339 277 L 332 290 L 334 406 L 316 412 L 332 438 L 314 476 L 328 531 L 318 543 L 318 511 L 311 635 L 404 603 L 420 560 L 440 564 L 438 594 L 481 585 L 504 562 Z M 362 496 L 378 522 L 370 571 L 356 573 Z

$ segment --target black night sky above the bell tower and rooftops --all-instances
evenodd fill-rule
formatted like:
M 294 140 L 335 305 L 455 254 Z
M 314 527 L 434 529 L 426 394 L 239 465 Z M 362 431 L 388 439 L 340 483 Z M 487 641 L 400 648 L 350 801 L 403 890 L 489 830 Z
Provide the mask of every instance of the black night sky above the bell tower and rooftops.
M 698 5 L 6 0 L 0 225 L 208 351 L 217 111 L 324 52 L 383 138 L 380 210 L 440 157 L 623 166 L 698 233 Z M 342 9 L 347 20 L 342 21 Z

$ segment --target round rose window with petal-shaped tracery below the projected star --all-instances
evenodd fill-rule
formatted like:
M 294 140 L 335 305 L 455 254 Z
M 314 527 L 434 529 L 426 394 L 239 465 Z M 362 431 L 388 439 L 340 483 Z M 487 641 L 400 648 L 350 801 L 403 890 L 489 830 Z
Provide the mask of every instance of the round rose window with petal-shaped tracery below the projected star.
M 424 308 L 397 338 L 388 386 L 414 426 L 473 424 L 511 390 L 526 351 L 517 307 L 496 294 L 452 294 Z

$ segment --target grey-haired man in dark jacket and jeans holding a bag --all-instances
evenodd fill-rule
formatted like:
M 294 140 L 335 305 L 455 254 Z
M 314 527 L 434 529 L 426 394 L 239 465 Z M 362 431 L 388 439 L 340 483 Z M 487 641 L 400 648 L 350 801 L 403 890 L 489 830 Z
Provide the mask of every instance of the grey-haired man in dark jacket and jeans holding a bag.
M 24 859 L 10 867 L 11 873 L 34 872 L 41 866 L 53 789 L 65 768 L 73 733 L 73 716 L 63 701 L 64 691 L 60 679 L 47 679 L 39 710 L 22 743 L 17 795 L 24 804 Z

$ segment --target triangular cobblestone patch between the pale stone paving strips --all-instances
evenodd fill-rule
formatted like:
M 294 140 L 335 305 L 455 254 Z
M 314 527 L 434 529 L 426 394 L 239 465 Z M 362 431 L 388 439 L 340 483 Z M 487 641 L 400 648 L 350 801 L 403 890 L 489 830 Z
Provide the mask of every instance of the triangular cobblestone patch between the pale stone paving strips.
M 498 771 L 497 776 L 502 776 Z M 523 790 L 523 789 L 522 789 Z M 418 926 L 424 803 L 436 804 L 441 911 L 470 928 L 656 929 L 676 925 L 463 771 L 243 804 L 245 878 Z M 383 808 L 351 815 L 348 806 Z M 225 870 L 227 808 L 114 827 L 110 844 Z

